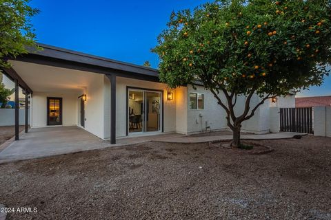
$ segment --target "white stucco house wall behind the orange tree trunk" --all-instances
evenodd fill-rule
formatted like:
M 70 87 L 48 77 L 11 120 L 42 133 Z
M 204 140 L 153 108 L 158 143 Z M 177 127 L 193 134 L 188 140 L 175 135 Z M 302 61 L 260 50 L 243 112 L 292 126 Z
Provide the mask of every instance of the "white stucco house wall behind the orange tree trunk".
M 217 104 L 216 98 L 208 90 L 205 90 L 201 86 L 196 86 L 197 89 L 193 89 L 192 86 L 188 87 L 188 94 L 186 98 L 187 102 L 187 133 L 195 133 L 205 129 L 205 123 L 208 122 L 212 130 L 229 129 L 226 121 L 225 110 L 219 104 Z M 192 110 L 189 107 L 189 95 L 190 92 L 201 93 L 205 95 L 205 109 L 203 110 Z M 227 103 L 222 93 L 219 95 L 223 103 Z M 243 113 L 245 96 L 239 96 L 237 98 L 237 104 L 234 107 L 236 115 Z M 254 95 L 250 101 L 250 109 L 253 109 L 261 99 L 259 96 Z M 277 107 L 272 109 L 270 107 Z M 261 106 L 255 111 L 254 116 L 250 120 L 245 120 L 241 124 L 241 131 L 248 133 L 269 133 L 279 132 L 279 107 L 295 107 L 295 96 L 285 96 L 277 98 L 276 103 L 272 103 L 271 100 L 266 100 Z M 179 110 L 179 108 L 177 108 Z M 178 114 L 178 113 L 177 113 Z M 202 118 L 199 115 L 202 115 Z M 178 123 L 178 122 L 177 122 Z M 202 128 L 202 129 L 201 129 Z

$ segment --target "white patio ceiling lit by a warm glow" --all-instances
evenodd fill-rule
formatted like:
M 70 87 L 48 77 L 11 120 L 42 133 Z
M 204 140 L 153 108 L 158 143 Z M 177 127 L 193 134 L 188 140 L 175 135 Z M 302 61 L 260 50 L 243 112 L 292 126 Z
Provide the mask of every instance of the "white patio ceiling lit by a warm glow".
M 92 78 L 99 74 L 75 69 L 10 61 L 12 68 L 34 92 L 81 94 Z

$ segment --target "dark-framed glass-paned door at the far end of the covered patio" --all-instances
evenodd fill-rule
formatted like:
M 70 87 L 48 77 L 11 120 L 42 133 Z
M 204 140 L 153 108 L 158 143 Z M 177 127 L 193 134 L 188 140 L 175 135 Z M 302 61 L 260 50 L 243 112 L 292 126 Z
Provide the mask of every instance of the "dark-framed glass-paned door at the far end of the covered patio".
M 62 125 L 62 98 L 47 98 L 47 125 Z

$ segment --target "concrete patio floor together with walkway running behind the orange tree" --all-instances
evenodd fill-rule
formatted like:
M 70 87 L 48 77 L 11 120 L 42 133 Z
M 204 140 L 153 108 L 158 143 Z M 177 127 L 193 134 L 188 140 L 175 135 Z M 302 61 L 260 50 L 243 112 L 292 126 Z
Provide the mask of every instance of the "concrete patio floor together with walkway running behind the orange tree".
M 241 135 L 245 140 L 283 139 L 291 138 L 299 133 L 269 133 L 265 135 Z M 299 135 L 303 135 L 302 133 Z M 56 126 L 30 129 L 21 133 L 19 141 L 7 143 L 0 150 L 0 164 L 23 159 L 49 157 L 67 153 L 76 153 L 109 146 L 125 146 L 143 142 L 201 143 L 215 140 L 232 140 L 232 135 L 207 135 L 194 137 L 178 133 L 165 133 L 141 137 L 125 137 L 117 139 L 117 144 L 101 140 L 78 126 Z M 5 143 L 6 144 L 6 143 Z M 0 148 L 1 149 L 1 148 Z

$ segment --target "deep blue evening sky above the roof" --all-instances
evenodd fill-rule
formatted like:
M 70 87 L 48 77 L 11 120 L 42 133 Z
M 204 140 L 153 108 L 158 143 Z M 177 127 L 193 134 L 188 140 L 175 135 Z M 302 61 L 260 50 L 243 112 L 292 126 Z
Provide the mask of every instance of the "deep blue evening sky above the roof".
M 207 0 L 32 0 L 40 10 L 32 18 L 37 41 L 69 50 L 152 67 L 159 63 L 150 49 L 166 28 L 172 11 L 195 8 Z M 331 77 L 322 87 L 298 96 L 331 95 Z

